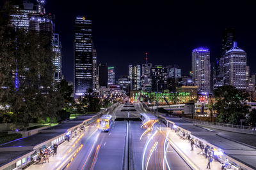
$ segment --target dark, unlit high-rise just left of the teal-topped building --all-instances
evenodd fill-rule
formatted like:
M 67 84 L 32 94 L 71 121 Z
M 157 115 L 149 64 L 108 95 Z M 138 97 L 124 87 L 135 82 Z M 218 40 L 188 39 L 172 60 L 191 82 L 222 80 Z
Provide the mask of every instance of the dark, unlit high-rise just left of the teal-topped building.
M 107 63 L 100 63 L 98 67 L 99 88 L 108 87 L 108 65 Z

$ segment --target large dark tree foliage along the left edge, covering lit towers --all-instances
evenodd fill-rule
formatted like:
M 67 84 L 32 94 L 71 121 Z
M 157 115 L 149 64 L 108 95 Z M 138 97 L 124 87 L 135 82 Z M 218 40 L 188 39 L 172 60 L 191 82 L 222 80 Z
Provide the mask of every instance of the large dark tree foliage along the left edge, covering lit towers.
M 11 7 L 7 3 L 0 13 L 1 116 L 24 128 L 33 120 L 57 117 L 65 101 L 53 82 L 51 34 L 15 29 L 10 13 L 18 11 Z

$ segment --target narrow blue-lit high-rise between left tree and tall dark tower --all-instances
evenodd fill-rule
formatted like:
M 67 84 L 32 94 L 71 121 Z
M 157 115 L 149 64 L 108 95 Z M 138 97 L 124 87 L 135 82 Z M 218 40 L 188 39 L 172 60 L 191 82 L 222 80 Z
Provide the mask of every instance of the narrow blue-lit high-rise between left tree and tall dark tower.
M 60 82 L 62 78 L 62 62 L 61 62 L 61 43 L 59 34 L 53 34 L 52 39 L 52 51 L 54 57 L 52 59 L 53 65 L 55 67 L 54 80 Z

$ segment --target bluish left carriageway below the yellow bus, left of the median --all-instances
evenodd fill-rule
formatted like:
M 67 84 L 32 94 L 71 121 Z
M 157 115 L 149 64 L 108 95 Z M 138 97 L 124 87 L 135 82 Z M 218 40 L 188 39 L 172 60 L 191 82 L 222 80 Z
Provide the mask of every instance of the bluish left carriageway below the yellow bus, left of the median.
M 97 133 L 84 141 L 84 147 L 66 169 L 122 169 L 127 122 L 115 122 L 111 131 Z

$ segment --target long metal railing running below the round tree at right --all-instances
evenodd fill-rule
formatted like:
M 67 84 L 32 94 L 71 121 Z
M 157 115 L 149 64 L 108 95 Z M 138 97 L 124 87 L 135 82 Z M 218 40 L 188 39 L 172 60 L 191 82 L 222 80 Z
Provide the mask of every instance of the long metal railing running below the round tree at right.
M 252 126 L 246 126 L 246 125 L 232 125 L 232 124 L 223 124 L 219 122 L 208 122 L 204 120 L 195 120 L 191 118 L 182 118 L 183 120 L 186 120 L 188 122 L 191 122 L 193 124 L 199 124 L 199 125 L 205 125 L 207 127 L 212 127 L 216 129 L 223 129 L 226 131 L 232 131 L 232 132 L 242 132 L 242 133 L 249 133 L 249 134 L 256 134 L 256 127 Z

